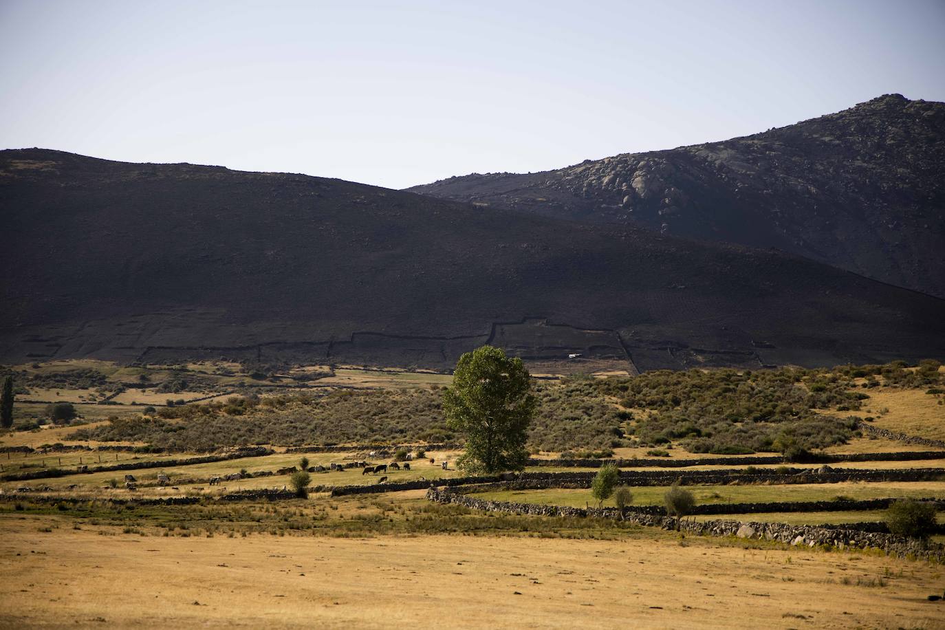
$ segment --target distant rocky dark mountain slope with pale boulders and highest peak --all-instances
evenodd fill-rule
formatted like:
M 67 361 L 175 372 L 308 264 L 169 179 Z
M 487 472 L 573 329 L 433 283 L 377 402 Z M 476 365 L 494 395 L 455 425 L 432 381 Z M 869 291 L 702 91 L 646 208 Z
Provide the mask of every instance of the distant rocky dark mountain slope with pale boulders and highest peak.
M 899 94 L 726 142 L 410 190 L 778 247 L 945 298 L 945 104 Z

